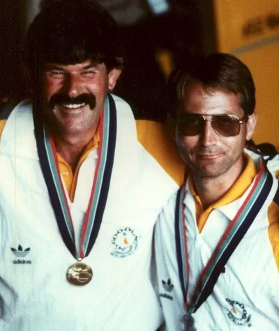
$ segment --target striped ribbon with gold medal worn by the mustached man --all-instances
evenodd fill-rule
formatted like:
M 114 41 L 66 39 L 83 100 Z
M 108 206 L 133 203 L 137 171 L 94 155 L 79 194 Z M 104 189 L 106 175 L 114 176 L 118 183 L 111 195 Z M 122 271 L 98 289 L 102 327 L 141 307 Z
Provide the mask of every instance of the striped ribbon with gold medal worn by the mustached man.
M 91 195 L 82 225 L 80 245 L 75 243 L 73 220 L 70 215 L 66 192 L 61 181 L 54 141 L 45 129 L 39 111 L 36 110 L 36 107 L 34 107 L 33 118 L 40 167 L 43 171 L 63 242 L 78 261 L 68 268 L 67 279 L 71 284 L 85 285 L 91 281 L 93 273 L 89 265 L 81 261 L 85 256 L 88 256 L 96 242 L 110 189 L 116 143 L 115 103 L 112 95 L 108 95 L 105 100 L 105 107 L 100 114 L 98 160 L 93 176 Z

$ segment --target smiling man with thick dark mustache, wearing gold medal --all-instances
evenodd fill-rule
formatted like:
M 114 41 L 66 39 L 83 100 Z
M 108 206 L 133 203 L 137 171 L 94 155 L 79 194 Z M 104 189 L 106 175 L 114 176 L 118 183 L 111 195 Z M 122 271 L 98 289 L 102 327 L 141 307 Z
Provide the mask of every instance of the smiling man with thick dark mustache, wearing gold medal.
M 52 3 L 24 62 L 33 102 L 0 121 L 0 330 L 157 330 L 153 226 L 184 165 L 111 93 L 116 24 L 86 0 Z

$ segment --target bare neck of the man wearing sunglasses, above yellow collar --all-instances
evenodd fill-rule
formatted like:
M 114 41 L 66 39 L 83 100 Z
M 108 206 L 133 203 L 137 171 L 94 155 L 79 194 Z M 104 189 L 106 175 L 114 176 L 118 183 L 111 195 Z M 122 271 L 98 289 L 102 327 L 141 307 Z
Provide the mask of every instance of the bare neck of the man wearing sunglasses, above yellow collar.
M 193 173 L 195 190 L 199 199 L 202 201 L 204 210 L 213 203 L 216 203 L 229 191 L 244 171 L 246 163 L 246 159 L 243 157 L 243 162 L 240 167 L 231 169 L 231 171 L 227 171 L 225 174 L 215 178 L 202 178 Z

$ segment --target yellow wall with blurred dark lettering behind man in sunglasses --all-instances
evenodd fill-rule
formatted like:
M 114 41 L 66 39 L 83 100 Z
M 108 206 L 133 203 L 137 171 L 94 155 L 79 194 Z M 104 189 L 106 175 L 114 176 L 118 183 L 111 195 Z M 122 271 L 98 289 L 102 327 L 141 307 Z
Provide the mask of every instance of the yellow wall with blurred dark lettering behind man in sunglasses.
M 253 139 L 279 148 L 279 2 L 215 0 L 218 52 L 239 57 L 252 72 L 258 115 Z

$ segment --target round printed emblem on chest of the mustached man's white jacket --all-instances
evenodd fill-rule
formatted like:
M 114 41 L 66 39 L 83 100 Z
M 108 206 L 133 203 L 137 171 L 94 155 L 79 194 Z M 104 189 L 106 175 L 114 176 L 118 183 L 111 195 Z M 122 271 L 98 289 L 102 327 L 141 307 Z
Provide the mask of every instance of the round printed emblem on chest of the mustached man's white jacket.
M 114 246 L 112 256 L 118 258 L 127 257 L 135 252 L 140 236 L 137 236 L 135 230 L 130 227 L 118 229 L 112 237 L 112 245 Z

